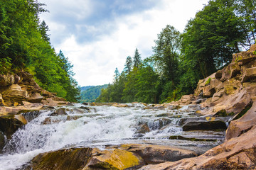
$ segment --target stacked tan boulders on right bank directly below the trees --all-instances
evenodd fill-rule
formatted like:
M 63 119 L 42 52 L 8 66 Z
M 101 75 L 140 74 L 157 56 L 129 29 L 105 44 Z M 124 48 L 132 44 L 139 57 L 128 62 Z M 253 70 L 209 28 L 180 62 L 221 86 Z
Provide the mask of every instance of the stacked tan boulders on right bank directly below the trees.
M 252 101 L 256 95 L 255 48 L 252 45 L 247 52 L 234 54 L 227 67 L 198 82 L 194 96 L 206 98 L 201 103 L 206 108 L 202 115 L 236 115 Z

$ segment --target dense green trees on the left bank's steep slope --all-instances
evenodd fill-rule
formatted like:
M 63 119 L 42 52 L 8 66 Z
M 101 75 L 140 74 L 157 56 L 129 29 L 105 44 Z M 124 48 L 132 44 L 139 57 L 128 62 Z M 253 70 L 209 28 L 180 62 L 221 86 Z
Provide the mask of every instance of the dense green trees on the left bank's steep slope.
M 77 101 L 73 65 L 50 45 L 48 26 L 39 14 L 44 4 L 35 0 L 0 1 L 0 74 L 25 70 L 38 84 L 68 101 Z

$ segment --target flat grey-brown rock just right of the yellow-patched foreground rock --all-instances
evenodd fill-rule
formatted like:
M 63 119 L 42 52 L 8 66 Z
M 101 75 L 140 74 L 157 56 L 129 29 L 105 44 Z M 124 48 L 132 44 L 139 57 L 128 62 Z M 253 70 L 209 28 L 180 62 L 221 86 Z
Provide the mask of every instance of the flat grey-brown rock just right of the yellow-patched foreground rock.
M 159 164 L 161 162 L 177 161 L 183 158 L 197 156 L 195 152 L 190 150 L 163 145 L 127 144 L 119 148 L 134 152 L 142 157 L 146 164 Z

